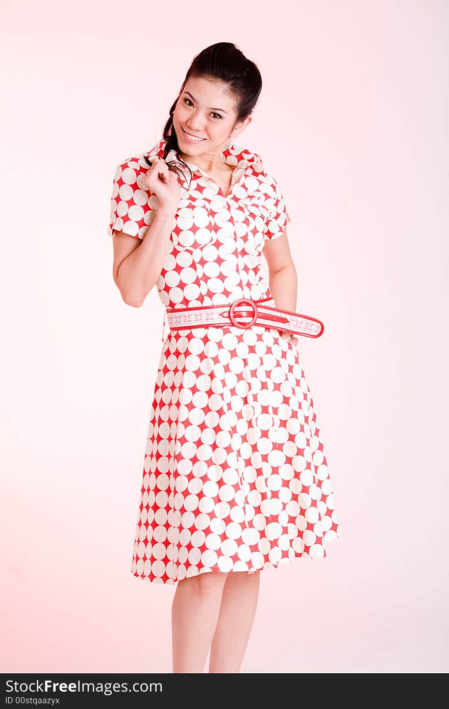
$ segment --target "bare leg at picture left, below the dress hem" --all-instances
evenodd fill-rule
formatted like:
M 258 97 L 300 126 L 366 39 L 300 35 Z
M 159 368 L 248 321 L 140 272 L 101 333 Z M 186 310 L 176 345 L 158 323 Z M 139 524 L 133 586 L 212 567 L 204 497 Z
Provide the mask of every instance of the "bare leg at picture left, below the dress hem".
M 172 602 L 173 672 L 204 670 L 228 574 L 206 571 L 178 581 Z

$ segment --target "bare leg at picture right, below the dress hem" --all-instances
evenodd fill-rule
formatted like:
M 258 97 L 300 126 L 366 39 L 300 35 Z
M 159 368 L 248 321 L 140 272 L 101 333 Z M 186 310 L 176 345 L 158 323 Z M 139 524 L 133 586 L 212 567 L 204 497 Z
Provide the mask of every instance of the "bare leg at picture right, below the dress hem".
M 250 637 L 257 598 L 260 571 L 230 571 L 221 598 L 220 615 L 211 642 L 209 672 L 240 671 Z

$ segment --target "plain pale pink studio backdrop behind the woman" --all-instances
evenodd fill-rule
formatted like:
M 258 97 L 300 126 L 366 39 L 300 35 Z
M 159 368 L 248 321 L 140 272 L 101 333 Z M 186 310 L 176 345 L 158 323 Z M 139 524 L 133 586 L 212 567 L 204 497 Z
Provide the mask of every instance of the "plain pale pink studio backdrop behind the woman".
M 299 347 L 341 525 L 262 571 L 242 672 L 449 669 L 448 6 L 292 7 L 3 4 L 1 671 L 171 671 L 175 586 L 131 574 L 163 310 L 121 301 L 106 230 L 116 166 L 218 41 L 262 73 L 238 144 L 325 324 Z

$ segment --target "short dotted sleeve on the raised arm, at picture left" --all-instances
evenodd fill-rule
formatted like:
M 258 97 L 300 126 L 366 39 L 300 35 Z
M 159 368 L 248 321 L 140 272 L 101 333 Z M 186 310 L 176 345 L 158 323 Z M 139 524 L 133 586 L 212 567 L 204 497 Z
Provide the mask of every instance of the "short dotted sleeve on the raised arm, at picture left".
M 113 178 L 108 234 L 123 231 L 143 239 L 156 216 L 157 197 L 148 189 L 145 176 L 150 166 L 143 155 L 118 165 Z

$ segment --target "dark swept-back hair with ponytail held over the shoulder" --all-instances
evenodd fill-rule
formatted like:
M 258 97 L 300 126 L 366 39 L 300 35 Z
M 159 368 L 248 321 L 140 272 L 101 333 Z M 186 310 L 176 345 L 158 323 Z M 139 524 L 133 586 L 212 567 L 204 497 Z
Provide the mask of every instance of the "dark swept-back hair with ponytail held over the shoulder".
M 170 150 L 175 150 L 179 162 L 186 165 L 189 169 L 192 180 L 192 170 L 184 160 L 182 160 L 182 157 L 179 156 L 178 140 L 173 128 L 174 108 L 176 108 L 179 96 L 181 96 L 182 91 L 184 91 L 184 86 L 187 84 L 189 77 L 206 77 L 227 84 L 228 91 L 235 98 L 237 109 L 234 128 L 237 123 L 245 121 L 245 118 L 248 118 L 248 116 L 253 113 L 260 96 L 260 91 L 262 91 L 262 77 L 255 63 L 247 59 L 243 52 L 240 52 L 235 44 L 231 42 L 217 42 L 214 45 L 210 45 L 210 47 L 206 47 L 206 49 L 202 50 L 202 52 L 199 52 L 199 54 L 194 57 L 179 94 L 172 108 L 170 108 L 170 118 L 165 124 L 163 133 L 164 140 L 167 141 L 164 147 L 164 160 Z M 148 160 L 146 155 L 145 161 L 150 166 L 153 164 Z M 168 168 L 177 172 L 177 167 L 174 162 L 169 162 Z

